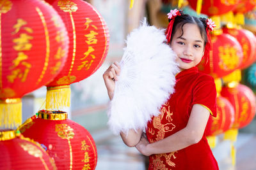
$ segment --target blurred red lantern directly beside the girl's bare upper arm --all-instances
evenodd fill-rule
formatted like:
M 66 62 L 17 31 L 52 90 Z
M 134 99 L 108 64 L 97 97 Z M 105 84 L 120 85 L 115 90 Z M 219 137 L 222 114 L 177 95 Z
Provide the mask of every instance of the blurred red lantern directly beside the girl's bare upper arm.
M 205 128 L 206 136 L 215 136 L 228 129 L 234 122 L 234 107 L 224 97 L 217 97 L 217 117 L 209 117 Z

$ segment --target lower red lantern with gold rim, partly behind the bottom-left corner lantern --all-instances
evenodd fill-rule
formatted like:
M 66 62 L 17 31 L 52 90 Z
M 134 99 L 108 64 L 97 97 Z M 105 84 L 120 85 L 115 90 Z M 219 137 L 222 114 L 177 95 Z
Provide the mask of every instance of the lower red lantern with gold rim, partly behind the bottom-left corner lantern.
M 97 148 L 90 133 L 67 119 L 63 111 L 39 111 L 19 128 L 20 132 L 45 146 L 58 169 L 95 169 Z

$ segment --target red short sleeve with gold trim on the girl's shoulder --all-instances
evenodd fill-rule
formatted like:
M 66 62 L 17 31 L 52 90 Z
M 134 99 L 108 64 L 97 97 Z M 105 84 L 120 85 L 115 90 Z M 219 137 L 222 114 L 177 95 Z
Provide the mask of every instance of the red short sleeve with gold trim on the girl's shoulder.
M 201 104 L 210 111 L 213 117 L 216 117 L 216 96 L 214 79 L 208 75 L 201 76 L 193 89 L 192 106 Z

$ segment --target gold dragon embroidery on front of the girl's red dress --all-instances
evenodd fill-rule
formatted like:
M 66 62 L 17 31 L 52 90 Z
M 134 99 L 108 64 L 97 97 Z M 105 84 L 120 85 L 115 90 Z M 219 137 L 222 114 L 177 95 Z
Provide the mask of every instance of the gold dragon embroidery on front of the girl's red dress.
M 168 110 L 166 109 L 166 107 L 168 107 Z M 161 115 L 159 115 L 158 117 L 154 117 L 153 118 L 153 126 L 154 128 L 158 129 L 159 131 L 157 132 L 157 137 L 155 139 L 155 141 L 159 141 L 161 139 L 164 139 L 164 134 L 165 132 L 170 132 L 175 128 L 175 125 L 172 123 L 167 123 L 167 124 L 161 124 L 161 120 L 163 120 L 164 114 L 166 113 L 166 120 L 168 120 L 168 122 L 171 122 L 172 119 L 172 115 L 173 113 L 170 112 L 170 106 L 168 103 L 164 104 L 163 109 L 161 110 Z M 153 129 L 151 129 L 150 134 L 152 134 Z M 150 139 L 150 143 L 154 142 L 154 140 Z M 152 164 L 154 166 L 154 169 L 168 169 L 165 167 L 163 160 L 161 160 L 161 157 L 164 157 L 166 163 L 171 166 L 171 167 L 175 167 L 175 163 L 172 162 L 171 158 L 173 157 L 173 159 L 176 159 L 174 153 L 176 152 L 171 152 L 171 153 L 161 153 L 161 154 L 156 154 L 155 158 L 152 161 Z

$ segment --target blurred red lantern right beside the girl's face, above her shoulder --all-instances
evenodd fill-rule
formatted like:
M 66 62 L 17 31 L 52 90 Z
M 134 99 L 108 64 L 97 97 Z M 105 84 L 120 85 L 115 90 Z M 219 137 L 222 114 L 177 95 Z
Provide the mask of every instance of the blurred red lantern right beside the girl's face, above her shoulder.
M 228 34 L 211 36 L 211 40 L 212 52 L 209 61 L 206 62 L 203 59 L 198 65 L 198 69 L 211 74 L 214 78 L 220 78 L 240 66 L 243 60 L 243 51 L 239 42 Z

